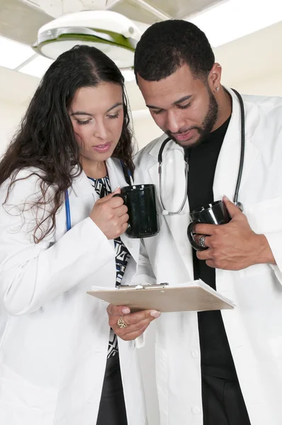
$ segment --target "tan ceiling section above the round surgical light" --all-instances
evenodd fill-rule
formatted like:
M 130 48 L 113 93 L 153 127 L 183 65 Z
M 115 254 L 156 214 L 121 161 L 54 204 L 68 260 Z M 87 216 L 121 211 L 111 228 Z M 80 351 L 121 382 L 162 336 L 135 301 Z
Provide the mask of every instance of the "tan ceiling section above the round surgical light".
M 145 24 L 185 18 L 224 0 L 0 0 L 0 34 L 32 45 L 38 29 L 62 13 L 107 9 Z

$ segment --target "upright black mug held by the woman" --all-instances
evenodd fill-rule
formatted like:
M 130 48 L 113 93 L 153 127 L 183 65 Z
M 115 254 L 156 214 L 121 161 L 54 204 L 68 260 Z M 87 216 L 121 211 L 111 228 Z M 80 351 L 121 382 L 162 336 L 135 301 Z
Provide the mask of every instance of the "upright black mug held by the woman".
M 154 184 L 125 186 L 114 196 L 123 198 L 128 207 L 128 228 L 125 234 L 132 238 L 151 237 L 159 233 L 156 190 Z

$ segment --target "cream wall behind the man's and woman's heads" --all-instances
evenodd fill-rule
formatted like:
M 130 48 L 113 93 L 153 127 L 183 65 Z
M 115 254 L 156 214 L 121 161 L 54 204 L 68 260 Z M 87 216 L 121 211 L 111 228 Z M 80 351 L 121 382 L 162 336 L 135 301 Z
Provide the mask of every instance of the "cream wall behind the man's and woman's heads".
M 214 49 L 222 65 L 222 82 L 234 86 L 242 81 L 282 73 L 282 22 Z M 28 104 L 39 79 L 0 67 L 0 101 Z M 145 108 L 134 81 L 127 84 L 132 111 Z

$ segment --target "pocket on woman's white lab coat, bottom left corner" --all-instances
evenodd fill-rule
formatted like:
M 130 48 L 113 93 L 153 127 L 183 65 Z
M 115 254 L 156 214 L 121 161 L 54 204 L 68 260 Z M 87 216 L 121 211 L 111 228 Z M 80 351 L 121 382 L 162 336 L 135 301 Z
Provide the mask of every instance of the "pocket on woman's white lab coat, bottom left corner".
M 0 424 L 52 425 L 57 391 L 33 385 L 0 362 Z

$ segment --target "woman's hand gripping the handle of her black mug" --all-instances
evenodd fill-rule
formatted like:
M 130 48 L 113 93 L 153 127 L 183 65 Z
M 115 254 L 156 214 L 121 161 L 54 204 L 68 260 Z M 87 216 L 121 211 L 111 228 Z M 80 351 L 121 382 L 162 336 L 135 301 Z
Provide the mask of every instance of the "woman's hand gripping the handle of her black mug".
M 108 239 L 115 239 L 128 227 L 128 207 L 123 204 L 123 198 L 113 198 L 115 193 L 120 193 L 120 188 L 97 200 L 90 214 L 91 220 Z

